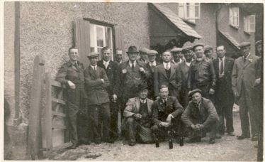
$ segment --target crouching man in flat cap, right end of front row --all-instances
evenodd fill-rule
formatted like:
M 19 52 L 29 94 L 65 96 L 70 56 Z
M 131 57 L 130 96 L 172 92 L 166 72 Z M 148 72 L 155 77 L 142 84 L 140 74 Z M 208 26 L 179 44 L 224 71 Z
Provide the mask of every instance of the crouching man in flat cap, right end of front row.
M 191 132 L 189 142 L 201 141 L 203 134 L 210 131 L 209 144 L 214 144 L 218 114 L 213 102 L 202 97 L 201 93 L 201 90 L 193 90 L 188 93 L 191 101 L 188 102 L 181 119 Z

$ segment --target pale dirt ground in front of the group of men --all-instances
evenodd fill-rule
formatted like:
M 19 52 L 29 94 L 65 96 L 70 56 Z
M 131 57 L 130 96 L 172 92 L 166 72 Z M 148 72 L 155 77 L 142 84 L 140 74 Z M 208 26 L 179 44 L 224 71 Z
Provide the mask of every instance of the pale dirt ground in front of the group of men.
M 234 112 L 235 134 L 241 134 L 239 113 Z M 208 144 L 208 136 L 201 143 L 169 149 L 167 141 L 154 144 L 128 146 L 123 141 L 115 144 L 81 145 L 76 150 L 55 153 L 50 160 L 98 160 L 98 161 L 256 161 L 257 148 L 250 139 L 237 140 L 235 136 L 222 136 L 215 144 Z

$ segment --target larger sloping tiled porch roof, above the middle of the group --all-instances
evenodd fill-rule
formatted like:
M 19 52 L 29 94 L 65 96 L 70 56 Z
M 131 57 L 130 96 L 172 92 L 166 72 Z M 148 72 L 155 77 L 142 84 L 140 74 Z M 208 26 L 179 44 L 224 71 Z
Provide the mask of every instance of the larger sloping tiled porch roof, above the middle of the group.
M 157 8 L 162 15 L 167 18 L 171 23 L 176 26 L 176 28 L 180 29 L 182 32 L 184 32 L 187 36 L 192 36 L 195 38 L 203 38 L 200 36 L 191 26 L 188 26 L 187 23 L 185 23 L 179 16 L 176 15 L 171 9 L 169 9 L 166 6 L 163 6 L 162 4 L 152 4 Z

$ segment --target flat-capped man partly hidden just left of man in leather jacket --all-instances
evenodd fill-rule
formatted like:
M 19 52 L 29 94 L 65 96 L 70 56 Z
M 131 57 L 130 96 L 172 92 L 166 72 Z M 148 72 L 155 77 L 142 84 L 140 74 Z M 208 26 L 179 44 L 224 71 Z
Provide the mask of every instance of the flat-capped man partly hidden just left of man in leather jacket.
M 191 61 L 193 60 L 192 55 L 192 47 L 188 46 L 182 50 L 182 53 L 184 53 L 185 60 L 179 64 L 179 72 L 181 73 L 181 96 L 180 96 L 180 102 L 181 105 L 186 108 L 188 105 L 188 69 L 191 65 Z

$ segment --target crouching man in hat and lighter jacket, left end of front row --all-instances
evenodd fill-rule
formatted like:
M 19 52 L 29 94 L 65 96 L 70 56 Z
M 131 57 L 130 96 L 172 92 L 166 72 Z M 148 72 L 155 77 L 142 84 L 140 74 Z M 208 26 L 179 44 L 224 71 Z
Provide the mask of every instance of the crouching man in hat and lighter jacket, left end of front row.
M 147 98 L 148 87 L 145 83 L 138 85 L 137 97 L 130 98 L 123 112 L 122 129 L 129 139 L 129 146 L 135 142 L 152 143 L 152 99 Z

